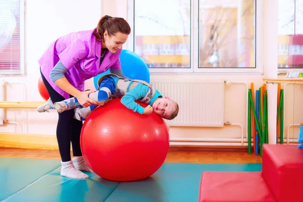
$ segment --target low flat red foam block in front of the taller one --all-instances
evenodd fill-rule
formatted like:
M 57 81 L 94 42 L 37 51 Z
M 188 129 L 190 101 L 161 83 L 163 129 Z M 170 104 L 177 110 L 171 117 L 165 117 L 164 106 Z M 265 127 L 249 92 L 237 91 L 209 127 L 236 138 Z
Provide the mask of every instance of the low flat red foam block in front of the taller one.
M 276 201 L 261 172 L 204 172 L 199 202 Z

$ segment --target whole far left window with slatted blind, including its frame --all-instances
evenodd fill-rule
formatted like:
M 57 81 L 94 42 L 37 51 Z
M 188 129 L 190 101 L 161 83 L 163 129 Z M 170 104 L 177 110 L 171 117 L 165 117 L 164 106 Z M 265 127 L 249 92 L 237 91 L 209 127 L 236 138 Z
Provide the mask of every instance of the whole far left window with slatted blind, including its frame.
M 24 0 L 0 1 L 0 74 L 24 74 Z

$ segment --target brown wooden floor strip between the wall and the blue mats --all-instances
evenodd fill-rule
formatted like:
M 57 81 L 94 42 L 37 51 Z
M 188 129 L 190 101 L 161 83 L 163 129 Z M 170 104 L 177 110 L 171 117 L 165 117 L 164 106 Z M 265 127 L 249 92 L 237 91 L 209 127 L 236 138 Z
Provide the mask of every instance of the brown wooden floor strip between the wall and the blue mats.
M 58 150 L 36 150 L 0 147 L 0 158 L 58 159 Z M 260 155 L 247 151 L 211 148 L 171 147 L 165 162 L 171 163 L 262 163 Z

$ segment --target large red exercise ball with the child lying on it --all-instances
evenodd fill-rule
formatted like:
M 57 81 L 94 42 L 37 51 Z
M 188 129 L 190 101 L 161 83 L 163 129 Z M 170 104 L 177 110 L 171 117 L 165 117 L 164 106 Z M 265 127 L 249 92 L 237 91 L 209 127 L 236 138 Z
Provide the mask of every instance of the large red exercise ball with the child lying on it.
M 169 133 L 163 119 L 154 112 L 140 115 L 120 100 L 98 106 L 87 117 L 81 131 L 81 150 L 98 176 L 119 182 L 140 180 L 164 163 Z

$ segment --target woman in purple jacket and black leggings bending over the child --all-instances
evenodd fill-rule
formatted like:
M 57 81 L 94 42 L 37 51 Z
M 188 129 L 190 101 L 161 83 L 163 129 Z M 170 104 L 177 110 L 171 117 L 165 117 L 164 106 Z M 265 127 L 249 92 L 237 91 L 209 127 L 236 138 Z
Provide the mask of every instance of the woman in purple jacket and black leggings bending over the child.
M 129 34 L 130 26 L 123 18 L 104 16 L 95 29 L 73 32 L 54 41 L 39 59 L 41 77 L 50 96 L 47 104 L 76 97 L 83 107 L 96 105 L 94 100 L 88 98 L 93 91 L 84 91 L 84 81 L 108 69 L 124 77 L 119 57 L 122 44 Z M 82 122 L 73 116 L 73 110 L 59 114 L 57 140 L 61 175 L 83 179 L 88 175 L 81 171 L 92 171 L 81 153 Z M 72 160 L 70 142 L 73 147 Z

